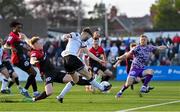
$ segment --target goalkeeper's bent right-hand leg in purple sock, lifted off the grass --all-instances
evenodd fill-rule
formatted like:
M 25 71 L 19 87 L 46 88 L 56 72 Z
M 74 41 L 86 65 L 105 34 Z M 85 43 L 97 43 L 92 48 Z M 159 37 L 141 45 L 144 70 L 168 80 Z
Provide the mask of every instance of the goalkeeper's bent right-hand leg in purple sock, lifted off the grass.
M 148 84 L 151 81 L 153 74 L 154 74 L 154 71 L 152 69 L 146 69 L 143 71 L 142 75 L 143 77 L 145 77 L 145 79 L 144 79 L 143 86 L 141 87 L 141 92 L 143 93 L 149 92 Z

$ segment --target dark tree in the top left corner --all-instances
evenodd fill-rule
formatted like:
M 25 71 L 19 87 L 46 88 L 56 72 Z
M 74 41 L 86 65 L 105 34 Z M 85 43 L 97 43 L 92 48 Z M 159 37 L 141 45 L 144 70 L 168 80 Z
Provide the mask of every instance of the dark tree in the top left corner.
M 2 19 L 18 19 L 30 16 L 24 0 L 0 0 L 0 16 Z

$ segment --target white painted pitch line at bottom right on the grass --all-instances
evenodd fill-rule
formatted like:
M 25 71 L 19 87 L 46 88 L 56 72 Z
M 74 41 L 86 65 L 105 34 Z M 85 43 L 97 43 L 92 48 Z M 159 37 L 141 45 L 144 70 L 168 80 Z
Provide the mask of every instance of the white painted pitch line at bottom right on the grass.
M 139 109 L 145 109 L 145 108 L 149 108 L 149 107 L 157 107 L 157 106 L 161 106 L 161 105 L 168 105 L 168 104 L 179 103 L 179 102 L 180 102 L 180 100 L 176 100 L 176 101 L 171 101 L 171 102 L 166 102 L 166 103 L 147 105 L 147 106 L 143 106 L 143 107 L 136 107 L 136 108 L 126 109 L 126 110 L 119 110 L 116 112 L 129 112 L 129 111 L 135 111 L 135 110 L 139 110 Z

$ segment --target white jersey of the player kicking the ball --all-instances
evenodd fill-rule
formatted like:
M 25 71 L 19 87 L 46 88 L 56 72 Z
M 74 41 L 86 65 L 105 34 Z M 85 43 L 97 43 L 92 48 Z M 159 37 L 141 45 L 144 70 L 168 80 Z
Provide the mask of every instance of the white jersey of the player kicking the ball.
M 81 40 L 81 35 L 77 32 L 70 33 L 71 38 L 68 38 L 66 49 L 61 53 L 62 57 L 67 55 L 77 56 L 79 49 L 86 47 L 86 44 Z

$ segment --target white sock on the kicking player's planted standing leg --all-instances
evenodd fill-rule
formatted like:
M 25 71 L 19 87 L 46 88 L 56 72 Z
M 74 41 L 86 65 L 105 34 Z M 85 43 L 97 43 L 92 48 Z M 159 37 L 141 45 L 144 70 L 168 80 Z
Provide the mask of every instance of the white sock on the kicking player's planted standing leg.
M 58 98 L 64 98 L 65 94 L 68 93 L 73 86 L 74 86 L 74 82 L 73 81 L 68 82 L 66 84 L 66 86 L 64 87 L 64 89 L 59 94 Z

